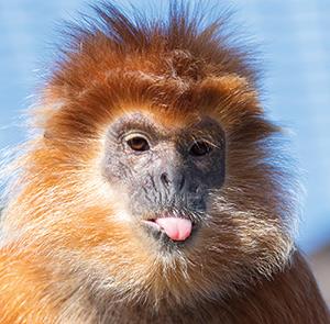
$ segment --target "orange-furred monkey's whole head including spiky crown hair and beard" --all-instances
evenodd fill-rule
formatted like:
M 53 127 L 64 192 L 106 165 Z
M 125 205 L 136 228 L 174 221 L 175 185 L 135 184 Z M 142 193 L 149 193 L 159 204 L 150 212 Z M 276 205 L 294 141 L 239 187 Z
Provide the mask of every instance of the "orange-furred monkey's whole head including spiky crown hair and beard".
M 248 55 L 185 10 L 97 11 L 35 109 L 4 227 L 101 299 L 193 304 L 279 270 L 292 177 Z

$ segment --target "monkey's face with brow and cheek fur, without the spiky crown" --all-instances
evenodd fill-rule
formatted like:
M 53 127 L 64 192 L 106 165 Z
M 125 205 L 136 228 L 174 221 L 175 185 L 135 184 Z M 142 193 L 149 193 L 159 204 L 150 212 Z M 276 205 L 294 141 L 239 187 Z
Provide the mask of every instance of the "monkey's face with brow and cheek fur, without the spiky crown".
M 101 297 L 227 295 L 292 248 L 290 178 L 253 89 L 238 76 L 182 87 L 113 71 L 41 121 L 32 187 L 12 214 L 29 205 L 20 220 L 38 248 L 59 249 Z

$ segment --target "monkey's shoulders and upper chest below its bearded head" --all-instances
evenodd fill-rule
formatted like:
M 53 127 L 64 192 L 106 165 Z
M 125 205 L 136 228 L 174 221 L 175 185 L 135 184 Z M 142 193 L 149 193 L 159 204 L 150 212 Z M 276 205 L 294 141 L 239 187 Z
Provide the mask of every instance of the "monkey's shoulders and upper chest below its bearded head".
M 54 273 L 40 255 L 25 253 L 18 259 L 12 254 L 0 254 L 0 261 L 2 275 L 12 279 L 0 282 L 0 291 L 7 298 L 0 298 L 0 305 L 2 302 L 6 305 L 0 306 L 0 317 L 4 311 L 6 319 L 12 319 L 4 323 L 18 323 L 22 314 L 35 309 L 38 310 L 38 323 L 330 323 L 315 279 L 298 253 L 282 272 L 240 289 L 235 295 L 196 301 L 194 306 L 163 303 L 158 312 L 143 303 L 119 300 L 109 292 L 95 294 L 84 282 L 86 278 L 77 281 L 75 271 L 72 275 Z M 20 303 L 19 298 L 24 302 Z M 10 317 L 7 310 L 12 310 Z

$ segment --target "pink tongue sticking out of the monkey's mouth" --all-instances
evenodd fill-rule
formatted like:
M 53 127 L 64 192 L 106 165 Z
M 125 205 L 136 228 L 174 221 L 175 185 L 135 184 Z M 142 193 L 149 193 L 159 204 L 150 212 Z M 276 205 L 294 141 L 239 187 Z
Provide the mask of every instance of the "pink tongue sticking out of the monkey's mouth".
M 157 223 L 173 241 L 185 241 L 191 234 L 191 221 L 178 217 L 156 219 Z

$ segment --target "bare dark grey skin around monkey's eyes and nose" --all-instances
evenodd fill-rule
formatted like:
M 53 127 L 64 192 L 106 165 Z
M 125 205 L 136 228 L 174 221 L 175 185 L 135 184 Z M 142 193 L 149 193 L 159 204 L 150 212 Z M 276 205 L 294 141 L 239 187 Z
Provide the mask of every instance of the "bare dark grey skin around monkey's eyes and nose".
M 128 193 L 136 221 L 188 217 L 195 233 L 210 191 L 224 181 L 224 134 L 210 118 L 178 130 L 142 113 L 127 114 L 109 127 L 102 168 L 107 180 Z M 148 233 L 168 243 L 164 233 Z

